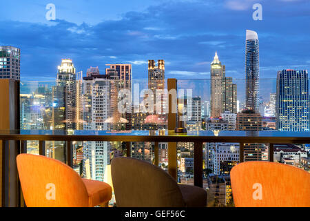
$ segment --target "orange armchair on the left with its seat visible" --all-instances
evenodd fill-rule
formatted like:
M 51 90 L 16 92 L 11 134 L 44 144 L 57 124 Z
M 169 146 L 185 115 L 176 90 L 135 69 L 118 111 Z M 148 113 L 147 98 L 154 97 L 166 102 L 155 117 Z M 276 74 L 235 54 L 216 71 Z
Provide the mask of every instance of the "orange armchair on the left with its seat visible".
M 28 207 L 92 207 L 107 204 L 112 198 L 109 184 L 82 179 L 58 160 L 20 154 L 17 169 Z

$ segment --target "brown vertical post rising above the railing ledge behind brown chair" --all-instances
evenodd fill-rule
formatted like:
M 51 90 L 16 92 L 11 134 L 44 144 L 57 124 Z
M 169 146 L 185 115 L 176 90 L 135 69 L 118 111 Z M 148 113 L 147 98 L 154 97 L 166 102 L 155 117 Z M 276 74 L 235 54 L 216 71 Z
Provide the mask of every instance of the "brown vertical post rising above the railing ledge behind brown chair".
M 174 133 L 176 128 L 177 81 L 167 79 L 168 89 L 168 134 Z M 176 180 L 178 178 L 178 163 L 176 156 L 176 142 L 168 143 L 168 173 Z

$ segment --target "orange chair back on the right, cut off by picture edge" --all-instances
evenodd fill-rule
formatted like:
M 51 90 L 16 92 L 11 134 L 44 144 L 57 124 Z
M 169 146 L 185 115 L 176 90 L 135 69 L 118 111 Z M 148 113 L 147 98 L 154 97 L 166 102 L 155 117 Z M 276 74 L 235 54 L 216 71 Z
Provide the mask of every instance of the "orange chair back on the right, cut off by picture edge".
M 243 162 L 231 169 L 237 207 L 309 207 L 310 173 L 276 162 Z

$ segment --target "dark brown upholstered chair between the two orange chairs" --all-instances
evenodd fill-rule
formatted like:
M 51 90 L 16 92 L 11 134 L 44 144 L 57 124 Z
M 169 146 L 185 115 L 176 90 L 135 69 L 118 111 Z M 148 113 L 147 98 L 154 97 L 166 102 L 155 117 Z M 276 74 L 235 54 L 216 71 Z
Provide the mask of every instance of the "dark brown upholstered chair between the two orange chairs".
M 203 207 L 207 191 L 177 184 L 174 178 L 149 162 L 116 157 L 111 162 L 118 207 Z

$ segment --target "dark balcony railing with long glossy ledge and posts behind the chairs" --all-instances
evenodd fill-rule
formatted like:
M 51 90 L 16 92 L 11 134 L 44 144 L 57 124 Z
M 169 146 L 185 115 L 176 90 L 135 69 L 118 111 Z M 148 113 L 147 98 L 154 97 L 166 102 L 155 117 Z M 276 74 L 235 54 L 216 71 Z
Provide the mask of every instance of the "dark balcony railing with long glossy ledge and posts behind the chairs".
M 309 132 L 278 131 L 0 131 L 2 141 L 2 206 L 23 206 L 21 187 L 17 177 L 16 156 L 27 153 L 27 141 L 39 142 L 39 154 L 45 155 L 45 142 L 65 142 L 63 156 L 73 166 L 73 142 L 125 142 L 125 156 L 131 156 L 130 142 L 154 142 L 154 164 L 158 165 L 158 143 L 194 142 L 194 185 L 203 187 L 203 143 L 229 142 L 240 144 L 240 162 L 244 161 L 245 144 L 269 144 L 269 161 L 273 162 L 273 144 L 309 144 Z M 168 173 L 177 178 L 176 145 L 168 149 Z

